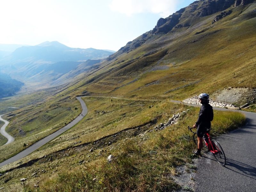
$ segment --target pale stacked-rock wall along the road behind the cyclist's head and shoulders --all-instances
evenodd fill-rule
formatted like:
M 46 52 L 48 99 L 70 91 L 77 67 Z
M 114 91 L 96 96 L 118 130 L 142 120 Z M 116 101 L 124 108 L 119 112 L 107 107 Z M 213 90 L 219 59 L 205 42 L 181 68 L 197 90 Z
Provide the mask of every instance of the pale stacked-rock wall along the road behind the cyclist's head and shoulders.
M 188 104 L 193 104 L 193 105 L 202 105 L 199 102 L 199 97 L 196 95 L 194 97 L 185 99 L 182 101 L 183 103 L 188 103 Z M 229 108 L 229 109 L 236 109 L 238 110 L 239 108 L 230 104 L 230 103 L 225 103 L 225 102 L 217 102 L 217 101 L 213 101 L 210 99 L 210 105 L 212 107 L 219 107 L 219 108 Z

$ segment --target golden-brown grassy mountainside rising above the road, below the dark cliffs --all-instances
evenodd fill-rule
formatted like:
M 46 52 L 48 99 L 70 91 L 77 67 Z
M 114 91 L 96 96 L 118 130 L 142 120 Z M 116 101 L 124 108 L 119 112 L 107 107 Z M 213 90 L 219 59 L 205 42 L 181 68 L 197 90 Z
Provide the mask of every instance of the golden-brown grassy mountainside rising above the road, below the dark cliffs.
M 255 87 L 256 19 L 245 13 L 239 15 L 241 11 L 242 8 L 237 8 L 213 25 L 212 17 L 204 18 L 199 28 L 183 29 L 183 33 L 176 38 L 166 34 L 155 40 L 155 44 L 144 44 L 124 53 L 94 74 L 100 77 L 94 78 L 91 84 L 80 90 L 87 90 L 91 94 L 138 98 L 162 96 L 181 100 L 197 92 L 212 93 L 227 86 Z M 195 35 L 199 31 L 203 32 Z M 137 60 L 132 59 L 154 49 L 159 51 Z M 130 64 L 126 66 L 126 63 Z M 158 65 L 169 68 L 148 70 Z M 108 72 L 109 68 L 114 67 Z M 122 86 L 136 78 L 137 81 Z M 156 80 L 160 81 L 159 84 L 143 87 Z M 193 82 L 196 83 L 182 88 Z M 172 91 L 175 88 L 178 89 Z

